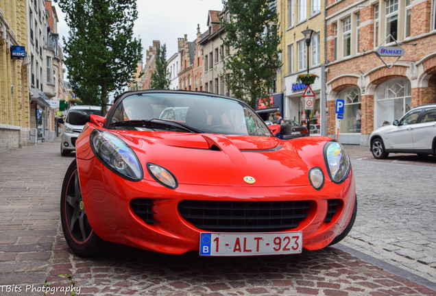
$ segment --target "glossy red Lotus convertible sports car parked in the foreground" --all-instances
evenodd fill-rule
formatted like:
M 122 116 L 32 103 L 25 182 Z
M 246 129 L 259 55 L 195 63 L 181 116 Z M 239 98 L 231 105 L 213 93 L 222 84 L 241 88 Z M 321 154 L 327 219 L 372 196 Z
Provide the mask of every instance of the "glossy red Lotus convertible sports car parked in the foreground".
M 61 195 L 78 256 L 104 241 L 166 254 L 298 254 L 339 242 L 354 223 L 343 147 L 322 136 L 280 140 L 238 99 L 133 91 L 105 117 L 70 121 L 86 123 Z

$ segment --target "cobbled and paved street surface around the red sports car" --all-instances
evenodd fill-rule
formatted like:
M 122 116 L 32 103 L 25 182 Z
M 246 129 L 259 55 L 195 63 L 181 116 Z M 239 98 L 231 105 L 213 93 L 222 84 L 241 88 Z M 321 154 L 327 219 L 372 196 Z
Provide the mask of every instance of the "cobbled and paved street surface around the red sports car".
M 61 157 L 59 147 L 0 153 L 0 295 L 73 295 L 72 287 L 77 295 L 436 295 L 434 272 L 424 271 L 435 269 L 424 260 L 432 251 L 434 258 L 436 241 L 435 193 L 422 186 L 435 175 L 431 166 L 365 160 L 363 149 L 347 147 L 359 178 L 359 212 L 350 237 L 337 247 L 297 256 L 202 258 L 109 245 L 91 260 L 71 254 L 62 235 L 60 189 L 73 157 Z M 417 245 L 426 256 L 409 259 L 400 251 Z M 398 263 L 394 267 L 413 276 L 376 260 Z

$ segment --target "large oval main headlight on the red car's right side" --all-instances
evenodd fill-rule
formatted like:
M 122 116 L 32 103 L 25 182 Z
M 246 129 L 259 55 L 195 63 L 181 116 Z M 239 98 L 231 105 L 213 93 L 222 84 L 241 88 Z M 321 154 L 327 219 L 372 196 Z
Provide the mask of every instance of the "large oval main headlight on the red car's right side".
M 324 161 L 330 180 L 337 184 L 342 183 L 350 173 L 351 164 L 347 152 L 342 145 L 335 141 L 330 141 L 324 146 Z

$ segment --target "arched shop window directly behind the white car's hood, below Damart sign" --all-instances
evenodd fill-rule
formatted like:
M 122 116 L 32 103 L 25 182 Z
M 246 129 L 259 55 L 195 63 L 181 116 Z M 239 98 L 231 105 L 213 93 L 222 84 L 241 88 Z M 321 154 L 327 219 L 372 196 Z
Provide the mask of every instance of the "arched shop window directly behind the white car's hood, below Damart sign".
M 400 119 L 411 109 L 411 84 L 408 79 L 389 79 L 377 86 L 374 130 Z

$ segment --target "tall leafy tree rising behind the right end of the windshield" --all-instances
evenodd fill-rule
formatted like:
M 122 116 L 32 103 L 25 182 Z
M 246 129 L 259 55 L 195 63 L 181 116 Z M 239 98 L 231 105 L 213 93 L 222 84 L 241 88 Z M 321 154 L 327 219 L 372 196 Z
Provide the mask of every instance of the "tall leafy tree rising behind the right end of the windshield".
M 223 0 L 230 19 L 221 21 L 226 32 L 221 38 L 227 49 L 221 79 L 235 97 L 253 108 L 256 99 L 267 98 L 265 103 L 269 103 L 267 90 L 273 86 L 276 71 L 282 66 L 278 56 L 281 35 L 273 2 Z M 231 54 L 229 49 L 232 49 Z

